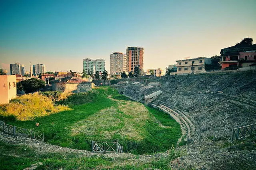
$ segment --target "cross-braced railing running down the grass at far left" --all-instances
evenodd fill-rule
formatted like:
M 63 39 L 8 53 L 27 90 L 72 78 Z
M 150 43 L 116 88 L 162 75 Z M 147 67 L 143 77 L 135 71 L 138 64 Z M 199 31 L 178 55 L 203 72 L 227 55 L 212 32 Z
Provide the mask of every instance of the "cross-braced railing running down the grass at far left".
M 2 132 L 6 134 L 10 134 L 13 136 L 24 136 L 26 138 L 32 138 L 36 140 L 44 141 L 44 134 L 38 134 L 32 130 L 20 128 L 17 126 L 12 126 L 10 124 L 6 124 L 0 120 L 0 127 L 2 127 Z

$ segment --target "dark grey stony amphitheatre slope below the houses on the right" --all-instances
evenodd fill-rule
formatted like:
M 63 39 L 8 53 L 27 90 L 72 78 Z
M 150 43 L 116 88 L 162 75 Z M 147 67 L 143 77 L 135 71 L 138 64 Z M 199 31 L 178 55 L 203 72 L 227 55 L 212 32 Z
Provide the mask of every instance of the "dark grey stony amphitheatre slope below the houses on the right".
M 124 82 L 125 80 L 123 80 Z M 136 78 L 113 85 L 121 94 L 138 101 L 162 90 L 156 101 L 191 117 L 196 131 L 212 131 L 256 122 L 256 72 Z M 140 82 L 140 84 L 132 84 Z M 159 87 L 149 88 L 150 82 Z M 219 91 L 219 92 L 218 92 Z M 155 102 L 156 102 L 155 101 Z

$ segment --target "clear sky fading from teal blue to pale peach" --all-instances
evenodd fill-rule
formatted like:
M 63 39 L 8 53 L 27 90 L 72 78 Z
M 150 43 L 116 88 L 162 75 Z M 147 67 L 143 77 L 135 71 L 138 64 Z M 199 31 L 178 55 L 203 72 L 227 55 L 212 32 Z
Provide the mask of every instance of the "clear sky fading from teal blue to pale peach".
M 80 71 L 83 58 L 144 47 L 144 70 L 256 43 L 256 0 L 0 0 L 0 68 Z M 10 72 L 10 71 L 9 71 Z

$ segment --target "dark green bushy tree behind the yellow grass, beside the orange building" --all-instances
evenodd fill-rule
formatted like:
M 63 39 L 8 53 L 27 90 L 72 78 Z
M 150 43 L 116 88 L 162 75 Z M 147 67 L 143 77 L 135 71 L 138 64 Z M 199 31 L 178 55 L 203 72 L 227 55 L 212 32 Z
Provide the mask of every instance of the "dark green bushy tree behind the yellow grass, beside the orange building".
M 25 91 L 25 93 L 36 92 L 40 88 L 44 88 L 45 82 L 43 80 L 37 80 L 36 78 L 30 78 L 28 80 L 23 80 L 17 83 L 17 87 L 19 90 L 21 88 Z

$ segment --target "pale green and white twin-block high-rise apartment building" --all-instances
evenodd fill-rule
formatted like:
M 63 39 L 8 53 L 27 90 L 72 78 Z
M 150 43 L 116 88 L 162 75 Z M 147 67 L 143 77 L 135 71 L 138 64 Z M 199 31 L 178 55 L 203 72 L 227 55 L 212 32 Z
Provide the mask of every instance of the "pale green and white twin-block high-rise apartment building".
M 103 59 L 96 59 L 96 60 L 92 60 L 90 58 L 84 58 L 84 67 L 83 69 L 87 72 L 88 70 L 90 70 L 91 72 L 93 72 L 94 74 L 98 71 L 98 72 L 103 72 L 105 69 L 105 60 Z

